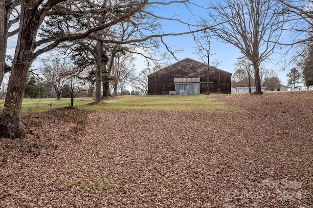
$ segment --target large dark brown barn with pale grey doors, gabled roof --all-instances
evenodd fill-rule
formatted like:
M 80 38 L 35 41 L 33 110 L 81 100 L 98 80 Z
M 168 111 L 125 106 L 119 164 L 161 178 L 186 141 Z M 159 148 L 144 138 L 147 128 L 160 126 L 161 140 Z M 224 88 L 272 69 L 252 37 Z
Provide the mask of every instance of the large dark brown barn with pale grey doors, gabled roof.
M 149 95 L 206 94 L 207 64 L 186 58 L 148 75 Z M 231 93 L 231 73 L 210 66 L 210 93 Z

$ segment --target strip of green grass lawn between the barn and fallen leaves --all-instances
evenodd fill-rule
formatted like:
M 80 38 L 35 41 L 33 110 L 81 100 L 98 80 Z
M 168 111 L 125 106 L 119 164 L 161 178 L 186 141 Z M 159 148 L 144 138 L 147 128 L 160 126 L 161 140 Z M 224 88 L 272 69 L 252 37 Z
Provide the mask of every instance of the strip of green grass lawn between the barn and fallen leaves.
M 75 107 L 90 110 L 118 110 L 118 109 L 146 109 L 146 110 L 172 110 L 172 111 L 197 111 L 197 112 L 228 112 L 236 109 L 216 102 L 214 95 L 188 95 L 188 96 L 119 96 L 115 99 L 102 101 L 105 104 L 90 104 L 93 98 L 76 98 Z M 0 100 L 3 106 L 4 101 Z M 47 111 L 54 108 L 69 106 L 70 99 L 24 99 L 23 113 Z

